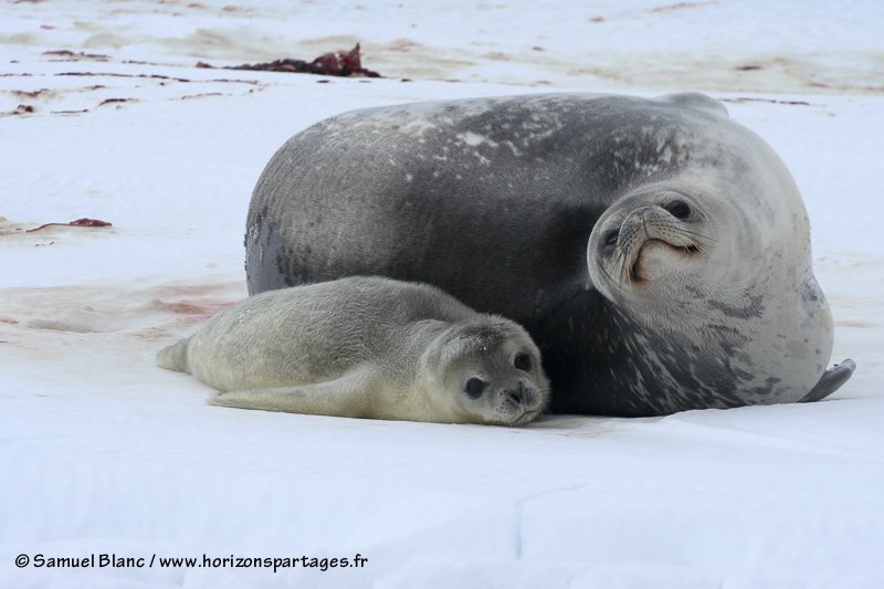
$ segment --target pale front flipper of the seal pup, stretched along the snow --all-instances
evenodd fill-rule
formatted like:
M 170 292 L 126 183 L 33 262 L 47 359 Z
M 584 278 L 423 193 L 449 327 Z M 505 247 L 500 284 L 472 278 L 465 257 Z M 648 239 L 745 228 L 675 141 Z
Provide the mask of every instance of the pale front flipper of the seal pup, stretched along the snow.
M 375 375 L 357 369 L 325 382 L 221 392 L 209 404 L 341 418 L 366 417 Z

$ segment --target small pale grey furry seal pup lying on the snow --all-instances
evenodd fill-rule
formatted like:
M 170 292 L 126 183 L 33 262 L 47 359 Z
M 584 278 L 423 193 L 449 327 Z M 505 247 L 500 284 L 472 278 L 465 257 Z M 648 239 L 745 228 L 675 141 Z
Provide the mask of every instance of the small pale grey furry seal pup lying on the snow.
M 520 425 L 549 391 L 520 326 L 379 277 L 249 297 L 157 362 L 221 391 L 210 404 L 350 418 Z

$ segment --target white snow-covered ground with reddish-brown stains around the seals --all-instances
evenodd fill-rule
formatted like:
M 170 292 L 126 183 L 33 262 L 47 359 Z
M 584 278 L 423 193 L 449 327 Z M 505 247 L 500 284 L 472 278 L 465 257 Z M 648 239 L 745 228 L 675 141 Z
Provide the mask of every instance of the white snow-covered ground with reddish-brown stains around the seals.
M 0 587 L 884 587 L 881 22 L 874 0 L 0 4 Z M 391 78 L 193 67 L 357 40 Z M 854 378 L 815 404 L 504 429 L 213 408 L 155 366 L 245 295 L 251 190 L 292 134 L 550 88 L 706 91 L 768 140 Z M 82 217 L 113 227 L 23 231 Z M 368 562 L 14 565 L 112 553 Z

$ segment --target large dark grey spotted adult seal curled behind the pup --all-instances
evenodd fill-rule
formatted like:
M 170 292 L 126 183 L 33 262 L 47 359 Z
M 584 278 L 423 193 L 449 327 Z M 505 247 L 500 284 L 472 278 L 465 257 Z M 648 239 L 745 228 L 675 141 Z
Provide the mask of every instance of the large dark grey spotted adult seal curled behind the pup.
M 290 139 L 252 197 L 249 288 L 421 281 L 537 341 L 557 412 L 817 400 L 832 318 L 798 189 L 701 94 L 356 111 Z

